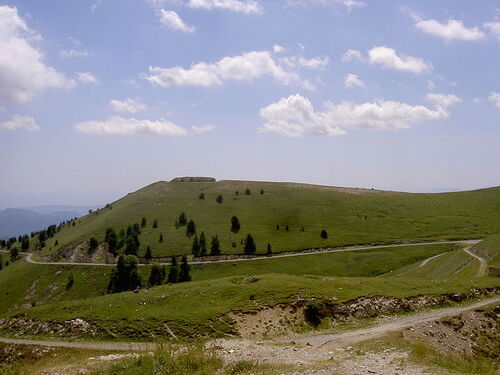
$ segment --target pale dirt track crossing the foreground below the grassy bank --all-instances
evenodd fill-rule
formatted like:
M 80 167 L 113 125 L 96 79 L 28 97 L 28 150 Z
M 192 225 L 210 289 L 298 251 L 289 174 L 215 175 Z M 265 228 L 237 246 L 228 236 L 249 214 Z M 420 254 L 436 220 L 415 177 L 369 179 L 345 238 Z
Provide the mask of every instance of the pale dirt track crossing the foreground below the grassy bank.
M 436 319 L 444 318 L 445 316 L 459 315 L 465 311 L 474 310 L 487 305 L 500 303 L 500 296 L 485 299 L 468 306 L 448 307 L 417 313 L 410 316 L 396 317 L 387 323 L 383 323 L 370 328 L 362 328 L 354 331 L 343 332 L 339 334 L 308 334 L 299 338 L 280 339 L 274 342 L 269 342 L 270 345 L 280 344 L 309 344 L 313 348 L 321 350 L 330 350 L 332 348 L 343 347 L 346 345 L 356 344 L 361 341 L 372 339 L 381 336 L 389 331 L 397 331 L 415 324 L 425 323 Z M 291 342 L 293 340 L 293 343 Z M 217 339 L 213 342 L 218 345 L 223 345 L 224 342 L 231 342 L 230 339 Z M 239 340 L 254 343 L 252 340 Z M 113 341 L 52 341 L 52 340 L 22 340 L 0 337 L 0 342 L 6 344 L 18 345 L 42 345 L 50 347 L 64 347 L 77 349 L 92 349 L 92 350 L 110 350 L 110 351 L 151 351 L 155 349 L 155 344 L 148 342 L 113 342 Z

